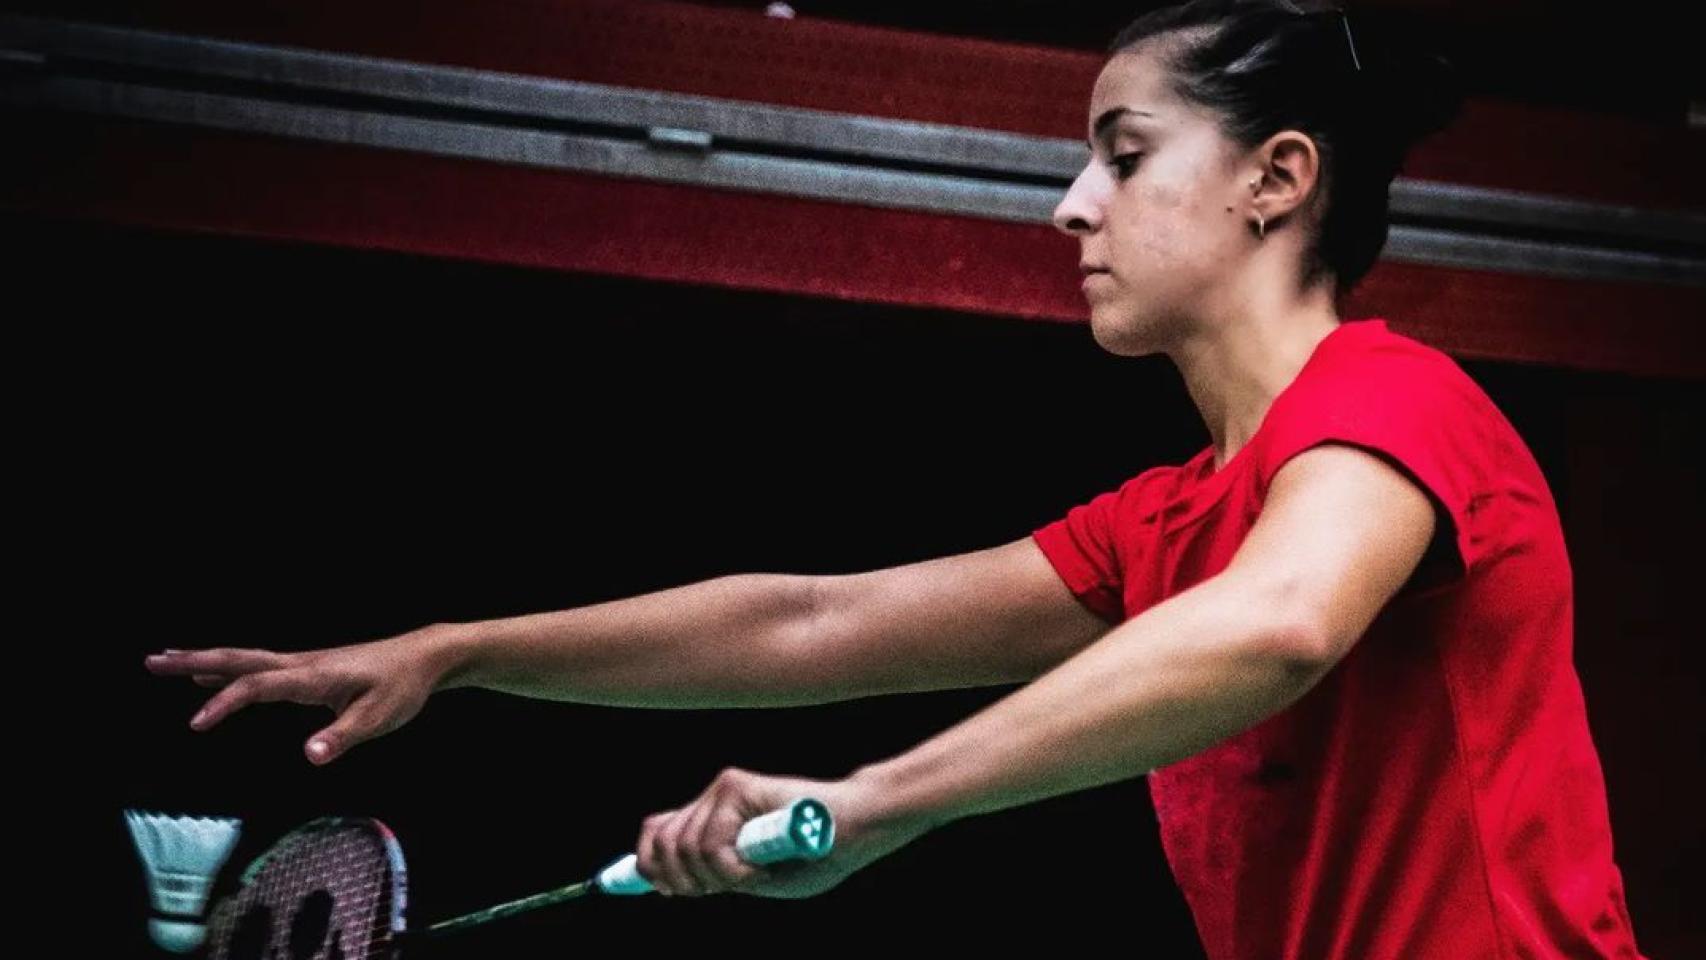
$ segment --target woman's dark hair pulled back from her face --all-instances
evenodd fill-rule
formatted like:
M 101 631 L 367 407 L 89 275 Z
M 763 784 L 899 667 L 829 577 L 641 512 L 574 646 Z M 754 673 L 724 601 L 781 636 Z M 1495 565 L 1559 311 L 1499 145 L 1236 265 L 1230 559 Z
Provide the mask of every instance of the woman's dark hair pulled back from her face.
M 1387 240 L 1387 189 L 1409 148 L 1462 107 L 1450 63 L 1394 43 L 1363 19 L 1288 0 L 1192 0 L 1145 14 L 1111 55 L 1146 41 L 1186 102 L 1220 114 L 1221 131 L 1256 147 L 1307 133 L 1326 189 L 1303 283 L 1331 273 L 1338 292 L 1373 268 Z

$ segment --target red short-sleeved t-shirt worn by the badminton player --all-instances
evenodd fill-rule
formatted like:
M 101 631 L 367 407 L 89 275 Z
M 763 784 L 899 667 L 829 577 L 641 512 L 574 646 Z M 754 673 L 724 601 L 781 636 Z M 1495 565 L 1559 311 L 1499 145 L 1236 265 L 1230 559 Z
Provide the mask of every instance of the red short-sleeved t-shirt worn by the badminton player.
M 1571 665 L 1546 479 L 1443 353 L 1341 324 L 1220 471 L 1157 467 L 1036 530 L 1109 622 L 1225 570 L 1280 467 L 1320 443 L 1397 466 L 1433 551 L 1285 711 L 1150 774 L 1213 960 L 1638 957 Z

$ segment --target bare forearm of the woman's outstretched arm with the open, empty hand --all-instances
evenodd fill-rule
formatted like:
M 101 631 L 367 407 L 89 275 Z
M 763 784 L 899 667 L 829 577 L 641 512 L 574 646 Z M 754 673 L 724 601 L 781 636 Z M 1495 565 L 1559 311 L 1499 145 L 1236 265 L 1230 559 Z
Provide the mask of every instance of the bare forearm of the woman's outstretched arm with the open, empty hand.
M 457 624 L 442 687 L 636 708 L 817 703 L 788 668 L 810 617 L 810 578 L 754 573 Z

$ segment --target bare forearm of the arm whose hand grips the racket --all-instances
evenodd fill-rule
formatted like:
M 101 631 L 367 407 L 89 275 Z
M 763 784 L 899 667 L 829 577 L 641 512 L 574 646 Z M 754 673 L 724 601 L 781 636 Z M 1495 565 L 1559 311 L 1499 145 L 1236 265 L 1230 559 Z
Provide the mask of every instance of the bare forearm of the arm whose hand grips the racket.
M 1271 604 L 1210 580 L 964 723 L 860 769 L 884 817 L 949 822 L 1128 779 L 1298 699 L 1322 667 Z

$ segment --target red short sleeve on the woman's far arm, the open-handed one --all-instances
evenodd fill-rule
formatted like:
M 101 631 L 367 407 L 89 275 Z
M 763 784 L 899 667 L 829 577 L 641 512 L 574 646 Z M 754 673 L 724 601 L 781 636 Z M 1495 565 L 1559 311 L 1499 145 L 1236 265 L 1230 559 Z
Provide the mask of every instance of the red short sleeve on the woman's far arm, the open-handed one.
M 1119 489 L 1097 494 L 1041 527 L 1030 537 L 1054 564 L 1066 588 L 1109 624 L 1126 619 L 1124 563 L 1119 534 L 1140 527 L 1145 483 L 1165 467 L 1136 476 Z

